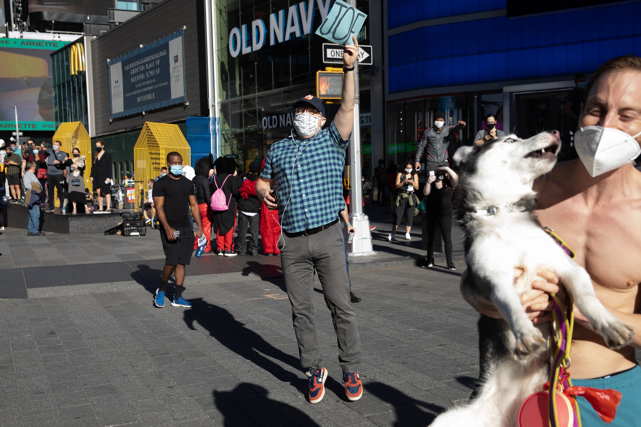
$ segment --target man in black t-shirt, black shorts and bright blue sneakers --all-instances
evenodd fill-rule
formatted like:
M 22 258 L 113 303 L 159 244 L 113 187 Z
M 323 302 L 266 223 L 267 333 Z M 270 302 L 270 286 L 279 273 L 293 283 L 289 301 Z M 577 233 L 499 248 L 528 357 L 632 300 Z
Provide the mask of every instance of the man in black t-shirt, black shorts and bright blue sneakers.
M 156 214 L 160 220 L 160 241 L 165 251 L 165 268 L 162 271 L 160 288 L 156 290 L 154 305 L 165 307 L 165 292 L 171 274 L 176 272 L 176 291 L 171 305 L 174 307 L 191 307 L 183 298 L 185 266 L 189 265 L 194 253 L 194 232 L 189 222 L 189 207 L 198 225 L 198 235 L 204 236 L 200 211 L 196 201 L 194 183 L 183 175 L 183 157 L 178 152 L 167 154 L 169 173 L 155 182 L 151 193 Z M 166 202 L 166 203 L 165 203 Z

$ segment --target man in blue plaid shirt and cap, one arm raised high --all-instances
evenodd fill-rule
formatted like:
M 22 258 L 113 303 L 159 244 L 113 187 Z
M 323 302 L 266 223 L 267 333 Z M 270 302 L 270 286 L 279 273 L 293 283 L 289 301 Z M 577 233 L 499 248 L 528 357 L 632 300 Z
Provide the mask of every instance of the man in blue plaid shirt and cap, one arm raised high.
M 278 208 L 282 218 L 281 263 L 301 365 L 310 378 L 310 403 L 323 398 L 327 379 L 313 314 L 314 271 L 338 338 L 338 362 L 343 369 L 347 399 L 358 400 L 363 392 L 357 373 L 360 337 L 349 298 L 343 234 L 338 222 L 340 211 L 345 209 L 342 185 L 345 149 L 354 124 L 358 42 L 354 36 L 352 40 L 354 45 L 345 45 L 343 52 L 342 102 L 334 121 L 322 129 L 327 121 L 325 107 L 313 95 L 294 102 L 296 133 L 292 131 L 290 137 L 272 145 L 256 181 L 258 198 L 269 209 Z M 276 198 L 271 189 L 274 182 L 279 185 Z

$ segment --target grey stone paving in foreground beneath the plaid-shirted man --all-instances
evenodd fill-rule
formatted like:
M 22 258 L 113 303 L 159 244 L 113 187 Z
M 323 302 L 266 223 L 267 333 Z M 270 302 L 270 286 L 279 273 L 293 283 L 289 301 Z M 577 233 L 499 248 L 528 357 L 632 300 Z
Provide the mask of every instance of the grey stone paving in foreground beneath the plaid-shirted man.
M 305 399 L 279 278 L 188 277 L 184 295 L 192 309 L 155 309 L 158 278 L 151 272 L 142 280 L 47 287 L 40 298 L 2 300 L 0 424 L 427 426 L 467 399 L 478 376 L 478 316 L 458 293 L 460 271 L 351 273 L 363 297 L 354 305 L 365 389 L 356 402 L 344 397 L 333 325 L 315 289 L 330 376 L 317 405 Z

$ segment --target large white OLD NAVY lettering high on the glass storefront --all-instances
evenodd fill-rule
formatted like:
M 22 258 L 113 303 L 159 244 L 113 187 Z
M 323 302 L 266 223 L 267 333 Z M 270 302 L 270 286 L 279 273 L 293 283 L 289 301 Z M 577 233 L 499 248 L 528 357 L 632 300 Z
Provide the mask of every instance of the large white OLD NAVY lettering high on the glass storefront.
M 229 54 L 236 58 L 238 54 L 247 54 L 260 50 L 267 41 L 269 36 L 269 45 L 273 46 L 292 40 L 292 35 L 301 37 L 312 33 L 314 22 L 314 2 L 319 5 L 320 20 L 325 20 L 329 12 L 331 0 L 307 0 L 301 3 L 289 6 L 287 9 L 287 20 L 285 19 L 285 9 L 274 12 L 269 15 L 269 33 L 267 26 L 262 19 L 256 19 L 251 22 L 251 28 L 247 29 L 247 24 L 234 27 L 229 31 Z

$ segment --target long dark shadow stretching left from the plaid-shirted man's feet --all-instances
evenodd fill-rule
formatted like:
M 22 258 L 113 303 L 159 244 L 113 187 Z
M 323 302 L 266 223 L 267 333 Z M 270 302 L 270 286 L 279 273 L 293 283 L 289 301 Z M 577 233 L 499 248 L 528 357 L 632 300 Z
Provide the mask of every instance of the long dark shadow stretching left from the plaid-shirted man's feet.
M 192 308 L 185 310 L 183 314 L 183 319 L 190 329 L 195 330 L 194 322 L 199 323 L 229 350 L 306 394 L 307 380 L 299 378 L 298 375 L 281 366 L 284 364 L 297 370 L 301 369 L 301 363 L 297 357 L 265 341 L 258 332 L 254 332 L 244 323 L 236 320 L 228 310 L 206 302 L 203 298 L 193 298 L 190 302 Z

